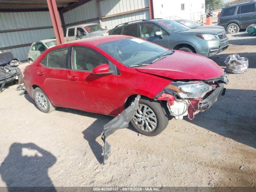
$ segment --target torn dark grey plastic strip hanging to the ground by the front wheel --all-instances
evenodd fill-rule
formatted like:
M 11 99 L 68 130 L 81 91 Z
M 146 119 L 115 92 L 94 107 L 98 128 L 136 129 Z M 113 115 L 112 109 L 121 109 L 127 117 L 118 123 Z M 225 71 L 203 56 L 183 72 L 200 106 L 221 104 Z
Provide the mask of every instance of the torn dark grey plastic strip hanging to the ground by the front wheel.
M 138 106 L 139 106 L 140 95 L 138 95 L 128 108 L 126 108 L 122 113 L 104 125 L 104 132 L 102 134 L 102 140 L 104 141 L 104 158 L 103 164 L 110 156 L 110 144 L 106 141 L 106 138 L 113 134 L 118 129 L 127 128 L 129 122 L 132 120 Z

